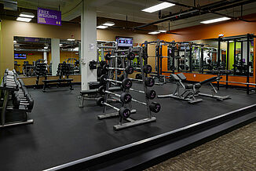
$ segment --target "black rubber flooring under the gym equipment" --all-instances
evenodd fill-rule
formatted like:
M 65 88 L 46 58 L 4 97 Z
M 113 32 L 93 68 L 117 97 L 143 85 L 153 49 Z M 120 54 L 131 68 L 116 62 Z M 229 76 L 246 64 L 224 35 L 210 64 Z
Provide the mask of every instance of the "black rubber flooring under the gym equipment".
M 114 131 L 118 118 L 98 120 L 97 115 L 102 114 L 103 107 L 97 107 L 94 101 L 86 101 L 86 106 L 80 108 L 81 88 L 74 87 L 73 91 L 68 87 L 51 88 L 48 93 L 42 93 L 42 89 L 28 89 L 35 100 L 31 113 L 35 123 L 0 129 L 0 170 L 49 169 L 256 103 L 256 95 L 225 88 L 221 88 L 220 94 L 230 95 L 232 99 L 223 102 L 207 97 L 200 97 L 203 102 L 199 104 L 155 99 L 162 105 L 156 122 Z M 133 83 L 133 89 L 142 89 L 142 86 Z M 154 89 L 158 94 L 167 94 L 174 89 L 174 84 Z M 210 87 L 203 86 L 202 92 L 210 93 Z M 143 94 L 132 94 L 134 99 L 143 100 Z M 133 108 L 137 109 L 133 118 L 144 118 L 144 106 L 133 104 Z

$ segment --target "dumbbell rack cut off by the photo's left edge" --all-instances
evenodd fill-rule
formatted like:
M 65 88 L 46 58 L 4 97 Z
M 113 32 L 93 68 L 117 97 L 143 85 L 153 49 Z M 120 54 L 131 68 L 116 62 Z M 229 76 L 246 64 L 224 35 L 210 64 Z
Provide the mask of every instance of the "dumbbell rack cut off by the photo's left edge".
M 10 85 L 9 79 L 13 78 L 13 83 Z M 24 124 L 31 124 L 34 121 L 32 119 L 27 120 L 27 112 L 30 112 L 31 110 L 27 110 L 27 108 L 14 108 L 12 106 L 9 106 L 9 101 L 10 101 L 10 95 L 13 94 L 14 92 L 17 92 L 19 90 L 20 83 L 16 80 L 16 71 L 9 71 L 8 69 L 5 70 L 5 75 L 2 78 L 2 83 L 0 86 L 0 93 L 3 95 L 3 100 L 1 98 L 1 125 L 0 128 L 6 127 L 6 126 L 18 126 L 18 125 L 24 125 Z M 7 111 L 12 111 L 12 112 L 23 112 L 25 113 L 25 119 L 24 120 L 19 120 L 15 122 L 6 122 L 5 121 L 5 116 Z

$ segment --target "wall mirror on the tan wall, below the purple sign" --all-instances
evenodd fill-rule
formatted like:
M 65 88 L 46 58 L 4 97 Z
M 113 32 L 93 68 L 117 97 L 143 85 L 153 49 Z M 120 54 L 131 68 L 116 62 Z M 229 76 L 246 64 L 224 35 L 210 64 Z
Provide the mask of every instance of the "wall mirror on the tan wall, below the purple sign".
M 36 76 L 36 64 L 45 63 L 47 75 L 53 75 L 53 57 L 59 58 L 59 64 L 68 63 L 70 75 L 80 74 L 79 45 L 75 39 L 60 39 L 59 47 L 51 45 L 51 38 L 13 38 L 14 68 L 20 77 Z M 52 48 L 60 50 L 59 56 L 52 56 Z M 56 67 L 55 67 L 56 68 Z M 56 73 L 56 72 L 55 72 Z

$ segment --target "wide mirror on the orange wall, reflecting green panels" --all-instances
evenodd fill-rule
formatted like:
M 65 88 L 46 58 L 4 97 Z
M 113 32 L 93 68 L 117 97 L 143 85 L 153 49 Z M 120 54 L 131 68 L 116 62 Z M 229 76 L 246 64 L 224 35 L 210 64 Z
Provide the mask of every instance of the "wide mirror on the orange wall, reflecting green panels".
M 220 42 L 218 38 L 191 41 L 177 45 L 174 60 L 167 57 L 170 58 L 168 71 L 211 74 L 213 70 L 229 70 L 231 75 L 247 76 L 248 66 L 249 75 L 253 76 L 254 38 L 237 36 L 223 38 Z

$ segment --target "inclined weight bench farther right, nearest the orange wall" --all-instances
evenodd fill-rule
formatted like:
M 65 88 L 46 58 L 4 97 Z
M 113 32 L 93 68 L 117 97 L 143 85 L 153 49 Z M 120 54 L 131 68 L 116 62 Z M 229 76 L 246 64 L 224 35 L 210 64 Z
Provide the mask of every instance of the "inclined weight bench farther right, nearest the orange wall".
M 203 80 L 203 82 L 199 82 L 201 85 L 204 84 L 209 84 L 211 86 L 211 94 L 207 94 L 207 93 L 199 93 L 199 89 L 198 89 L 198 95 L 199 96 L 207 96 L 210 98 L 214 98 L 218 101 L 223 101 L 223 100 L 227 100 L 227 99 L 231 99 L 230 96 L 217 96 L 216 94 L 218 93 L 217 89 L 215 89 L 215 87 L 212 85 L 212 82 L 218 82 L 221 79 L 221 77 L 212 77 L 212 78 L 208 78 L 206 80 Z

